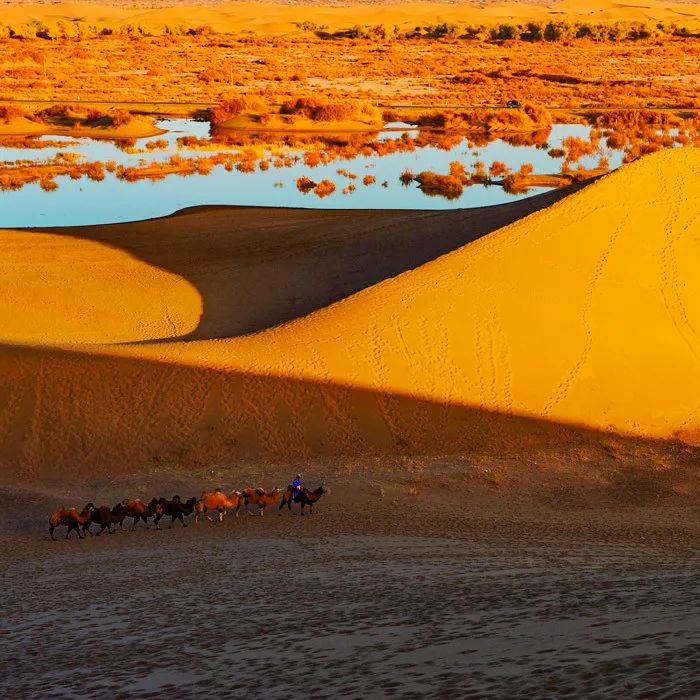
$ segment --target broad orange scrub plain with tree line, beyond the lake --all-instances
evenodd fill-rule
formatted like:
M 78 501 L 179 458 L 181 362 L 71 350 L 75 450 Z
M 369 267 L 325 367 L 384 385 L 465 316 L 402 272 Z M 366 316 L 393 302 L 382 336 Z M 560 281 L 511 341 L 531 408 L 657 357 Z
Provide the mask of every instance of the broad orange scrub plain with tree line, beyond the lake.
M 310 95 L 332 104 L 424 110 L 510 99 L 562 109 L 700 107 L 700 41 L 691 30 L 671 24 L 507 26 L 443 32 L 437 23 L 410 35 L 372 31 L 336 39 L 302 30 L 268 36 L 85 27 L 46 39 L 37 36 L 41 28 L 12 28 L 0 32 L 0 97 L 186 101 L 193 104 L 184 109 L 192 111 L 256 97 L 279 110 Z M 673 75 L 685 78 L 670 80 Z

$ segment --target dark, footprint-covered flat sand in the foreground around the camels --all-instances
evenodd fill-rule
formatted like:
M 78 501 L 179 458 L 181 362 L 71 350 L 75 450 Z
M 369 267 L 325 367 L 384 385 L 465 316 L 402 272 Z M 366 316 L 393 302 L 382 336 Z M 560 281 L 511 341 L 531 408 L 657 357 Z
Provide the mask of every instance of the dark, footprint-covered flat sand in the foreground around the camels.
M 0 689 L 17 699 L 691 697 L 700 525 L 674 489 L 696 477 L 625 482 L 637 460 L 599 458 L 604 485 L 561 473 L 551 455 L 517 470 L 317 461 L 309 483 L 330 473 L 333 490 L 311 517 L 231 514 L 81 542 L 48 539 L 48 497 L 5 489 L 0 662 L 12 672 Z M 239 466 L 237 478 L 258 468 Z M 282 482 L 295 466 L 285 468 L 266 478 Z M 227 473 L 135 474 L 73 495 L 190 495 Z

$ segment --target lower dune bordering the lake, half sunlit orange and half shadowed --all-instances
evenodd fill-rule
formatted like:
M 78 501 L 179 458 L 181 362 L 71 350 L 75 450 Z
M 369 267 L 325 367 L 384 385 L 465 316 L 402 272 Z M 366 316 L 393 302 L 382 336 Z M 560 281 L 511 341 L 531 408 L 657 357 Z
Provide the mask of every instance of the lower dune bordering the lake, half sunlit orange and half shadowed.
M 448 212 L 196 207 L 128 224 L 4 231 L 0 340 L 124 343 L 259 331 L 571 191 Z

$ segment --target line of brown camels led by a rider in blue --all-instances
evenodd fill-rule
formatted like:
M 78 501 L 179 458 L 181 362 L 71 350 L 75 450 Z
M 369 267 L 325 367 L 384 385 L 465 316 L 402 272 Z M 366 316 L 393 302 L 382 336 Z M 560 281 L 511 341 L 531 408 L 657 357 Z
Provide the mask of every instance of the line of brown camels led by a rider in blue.
M 95 507 L 93 503 L 88 503 L 80 511 L 77 508 L 62 506 L 57 508 L 49 518 L 49 535 L 52 540 L 55 540 L 54 531 L 57 527 L 68 528 L 66 539 L 73 531 L 78 534 L 79 539 L 87 534 L 100 535 L 105 530 L 112 535 L 117 529 L 124 529 L 124 521 L 127 519 L 131 519 L 132 532 L 136 530 L 139 522 L 143 522 L 146 529 L 150 529 L 149 519 L 152 519 L 155 529 L 160 530 L 159 523 L 163 516 L 170 518 L 169 527 L 172 527 L 176 520 L 179 520 L 183 527 L 187 527 L 187 518 L 193 513 L 195 523 L 199 522 L 199 516 L 202 514 L 207 520 L 213 522 L 214 519 L 209 515 L 209 511 L 216 511 L 218 522 L 222 522 L 230 510 L 235 510 L 236 517 L 238 517 L 241 508 L 246 515 L 255 515 L 254 508 L 257 506 L 257 514 L 262 516 L 265 515 L 267 508 L 277 503 L 279 503 L 278 515 L 282 515 L 284 506 L 292 511 L 292 503 L 300 504 L 300 515 L 304 515 L 306 506 L 309 507 L 309 513 L 313 515 L 314 503 L 328 493 L 330 493 L 330 489 L 325 486 L 319 486 L 314 490 L 307 489 L 301 485 L 299 475 L 297 475 L 294 482 L 286 489 L 276 487 L 269 492 L 260 487 L 231 491 L 228 494 L 221 489 L 214 489 L 213 491 L 203 491 L 199 498 L 192 497 L 186 501 L 183 501 L 180 496 L 173 496 L 170 500 L 152 498 L 148 503 L 144 503 L 138 498 L 125 498 L 113 508 L 109 506 Z M 99 530 L 93 531 L 93 525 L 97 526 Z

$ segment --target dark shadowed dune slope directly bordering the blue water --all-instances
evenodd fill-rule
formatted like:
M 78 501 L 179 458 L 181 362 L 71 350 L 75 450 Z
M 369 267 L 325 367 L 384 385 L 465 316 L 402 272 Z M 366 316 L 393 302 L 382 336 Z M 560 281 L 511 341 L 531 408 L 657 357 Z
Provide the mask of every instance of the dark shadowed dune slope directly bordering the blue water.
M 125 251 L 189 281 L 197 328 L 177 340 L 254 333 L 416 268 L 581 189 L 434 211 L 198 207 L 128 224 L 31 229 Z M 173 338 L 153 338 L 174 340 Z

